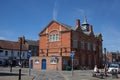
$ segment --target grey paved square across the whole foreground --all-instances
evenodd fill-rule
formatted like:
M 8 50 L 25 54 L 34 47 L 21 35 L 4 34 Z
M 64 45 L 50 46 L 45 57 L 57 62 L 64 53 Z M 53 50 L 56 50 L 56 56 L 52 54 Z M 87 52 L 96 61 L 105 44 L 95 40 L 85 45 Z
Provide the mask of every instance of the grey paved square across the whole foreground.
M 19 69 L 14 67 L 10 72 L 9 67 L 0 67 L 0 80 L 19 80 Z M 120 74 L 118 78 L 113 78 L 111 74 L 103 79 L 92 77 L 92 70 L 74 70 L 72 74 L 72 71 L 29 71 L 28 68 L 21 68 L 21 74 L 21 80 L 120 80 Z

